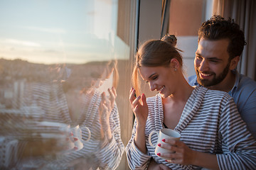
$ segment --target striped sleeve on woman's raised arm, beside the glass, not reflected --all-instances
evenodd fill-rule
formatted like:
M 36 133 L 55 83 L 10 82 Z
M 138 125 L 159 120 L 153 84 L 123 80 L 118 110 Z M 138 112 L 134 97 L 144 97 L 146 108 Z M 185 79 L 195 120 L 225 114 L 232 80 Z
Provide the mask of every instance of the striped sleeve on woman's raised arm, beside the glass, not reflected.
M 146 169 L 150 162 L 151 156 L 141 152 L 134 143 L 136 124 L 137 123 L 135 120 L 134 128 L 132 130 L 132 137 L 125 147 L 125 152 L 127 153 L 127 160 L 130 169 Z

